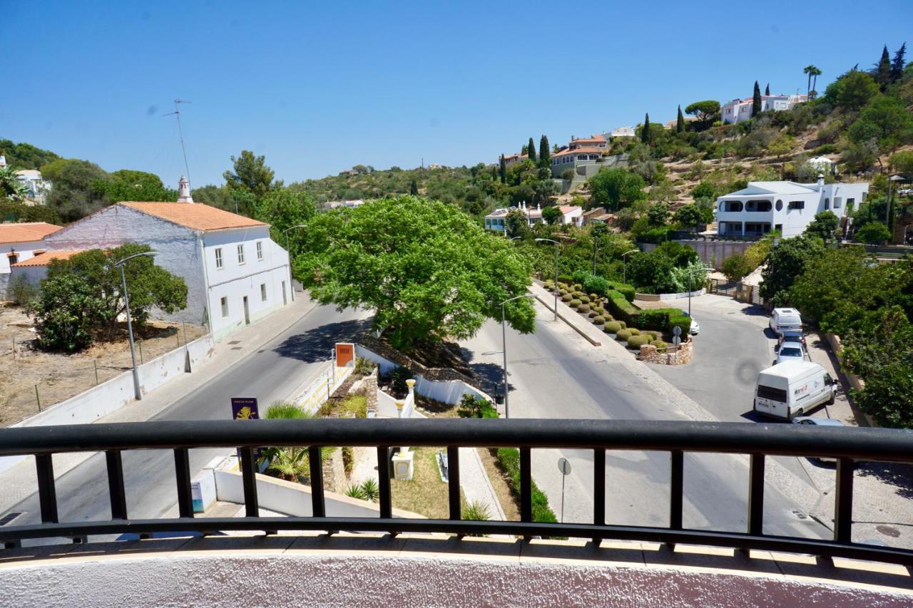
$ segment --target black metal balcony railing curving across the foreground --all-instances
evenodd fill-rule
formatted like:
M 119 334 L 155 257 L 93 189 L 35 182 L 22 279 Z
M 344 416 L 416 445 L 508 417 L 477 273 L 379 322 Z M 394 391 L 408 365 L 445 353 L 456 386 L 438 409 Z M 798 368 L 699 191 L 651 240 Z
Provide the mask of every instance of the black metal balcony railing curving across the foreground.
M 256 461 L 258 446 L 309 446 L 311 517 L 258 517 Z M 328 517 L 320 467 L 321 446 L 377 448 L 380 477 L 378 518 Z M 393 517 L 390 485 L 391 446 L 446 446 L 449 462 L 449 519 Z M 519 447 L 519 521 L 461 519 L 459 447 Z M 245 518 L 194 519 L 188 450 L 236 447 L 244 480 Z M 532 448 L 593 451 L 593 523 L 541 523 L 532 520 Z M 121 452 L 171 449 L 180 517 L 130 519 L 124 492 Z M 664 451 L 670 454 L 669 525 L 667 528 L 617 526 L 605 521 L 606 450 Z M 107 461 L 111 519 L 58 520 L 51 456 L 66 452 L 103 452 Z M 748 526 L 745 532 L 686 529 L 682 514 L 686 453 L 750 456 Z M 855 543 L 853 477 L 857 461 L 913 463 L 913 432 L 874 428 L 814 428 L 804 425 L 691 423 L 606 420 L 258 420 L 155 422 L 117 425 L 60 425 L 0 429 L 0 456 L 34 455 L 42 523 L 0 528 L 6 547 L 25 539 L 89 535 L 150 534 L 162 531 L 201 533 L 221 530 L 315 529 L 398 532 L 511 534 L 593 540 L 649 540 L 782 550 L 913 565 L 913 551 Z M 836 459 L 833 540 L 764 534 L 764 468 L 767 456 L 814 456 Z

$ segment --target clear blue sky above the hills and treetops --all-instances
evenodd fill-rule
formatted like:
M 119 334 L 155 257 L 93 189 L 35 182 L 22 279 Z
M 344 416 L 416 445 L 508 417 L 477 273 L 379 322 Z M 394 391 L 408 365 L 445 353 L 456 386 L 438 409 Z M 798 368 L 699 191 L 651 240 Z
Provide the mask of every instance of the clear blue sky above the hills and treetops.
M 184 162 L 222 183 L 266 154 L 286 183 L 353 164 L 494 162 L 675 118 L 677 104 L 818 89 L 905 40 L 913 1 L 8 2 L 0 4 L 0 138 L 104 169 Z

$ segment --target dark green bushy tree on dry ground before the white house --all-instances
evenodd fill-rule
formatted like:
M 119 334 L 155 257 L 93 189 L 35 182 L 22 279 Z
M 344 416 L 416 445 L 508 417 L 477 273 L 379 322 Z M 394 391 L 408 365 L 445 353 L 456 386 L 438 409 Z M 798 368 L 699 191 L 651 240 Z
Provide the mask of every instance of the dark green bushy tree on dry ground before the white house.
M 151 251 L 127 243 L 102 251 L 89 249 L 67 260 L 53 260 L 41 281 L 37 302 L 38 341 L 43 348 L 79 351 L 96 337 L 111 339 L 124 312 L 121 268 L 115 262 Z M 155 266 L 151 257 L 134 257 L 124 266 L 133 322 L 142 327 L 152 307 L 174 312 L 187 306 L 184 278 Z

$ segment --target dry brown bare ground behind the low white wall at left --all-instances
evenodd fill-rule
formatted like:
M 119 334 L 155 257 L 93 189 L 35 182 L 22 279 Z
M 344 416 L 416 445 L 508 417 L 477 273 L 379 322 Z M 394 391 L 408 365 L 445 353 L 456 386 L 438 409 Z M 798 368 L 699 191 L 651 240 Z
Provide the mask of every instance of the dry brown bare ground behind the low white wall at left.
M 200 325 L 188 323 L 183 328 L 165 321 L 134 328 L 137 362 L 141 353 L 142 362 L 148 362 L 183 346 L 184 330 L 187 341 L 205 333 Z M 131 369 L 126 323 L 114 340 L 97 341 L 75 354 L 40 351 L 36 337 L 34 323 L 23 309 L 0 307 L 0 426 L 37 414 L 38 400 L 43 409 Z

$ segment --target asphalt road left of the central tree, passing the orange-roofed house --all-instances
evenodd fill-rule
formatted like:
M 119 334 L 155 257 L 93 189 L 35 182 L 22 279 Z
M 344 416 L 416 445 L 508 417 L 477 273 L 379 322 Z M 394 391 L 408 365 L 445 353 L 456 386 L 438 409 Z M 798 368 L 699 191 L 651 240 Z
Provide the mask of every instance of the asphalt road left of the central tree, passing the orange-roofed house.
M 230 398 L 257 397 L 261 408 L 289 399 L 330 358 L 335 341 L 358 330 L 365 312 L 318 306 L 289 330 L 247 358 L 218 375 L 211 383 L 188 393 L 153 420 L 214 420 L 231 416 Z M 190 451 L 191 475 L 213 457 L 232 450 Z M 166 450 L 131 450 L 123 453 L 127 508 L 131 519 L 154 519 L 173 510 L 177 502 L 173 454 Z M 61 521 L 110 519 L 110 498 L 105 459 L 96 454 L 57 479 L 58 516 Z M 11 511 L 25 511 L 17 525 L 40 523 L 37 492 Z

